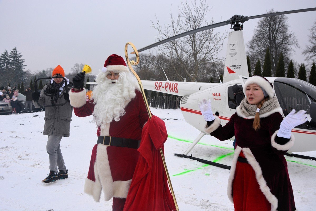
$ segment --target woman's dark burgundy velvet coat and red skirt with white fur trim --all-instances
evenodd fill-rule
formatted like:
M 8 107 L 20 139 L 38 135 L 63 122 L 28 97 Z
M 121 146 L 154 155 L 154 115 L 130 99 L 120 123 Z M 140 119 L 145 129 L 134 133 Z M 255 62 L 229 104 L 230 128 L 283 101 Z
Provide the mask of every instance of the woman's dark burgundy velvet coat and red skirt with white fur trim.
M 287 163 L 283 156 L 293 146 L 294 136 L 291 135 L 289 142 L 284 145 L 275 142 L 276 133 L 283 120 L 282 115 L 273 111 L 273 113 L 270 112 L 264 117 L 260 116 L 261 127 L 258 131 L 252 128 L 253 118 L 246 119 L 241 116 L 237 109 L 237 112 L 231 116 L 230 121 L 224 127 L 220 125 L 220 119 L 216 116 L 215 121 L 205 129 L 206 132 L 219 140 L 228 140 L 233 136 L 236 138 L 237 147 L 228 180 L 227 193 L 229 199 L 234 203 L 236 210 L 257 210 L 260 207 L 257 201 L 248 200 L 247 197 L 251 193 L 240 196 L 239 202 L 233 200 L 233 187 L 238 187 L 235 183 L 243 184 L 245 180 L 250 180 L 247 175 L 246 177 L 245 175 L 243 177 L 238 176 L 240 166 L 243 165 L 236 166 L 236 164 L 239 162 L 237 159 L 242 152 L 241 154 L 245 155 L 249 163 L 246 165 L 250 166 L 255 172 L 255 174 L 252 174 L 252 176 L 255 176 L 252 181 L 257 182 L 258 185 L 249 184 L 252 188 L 257 188 L 254 192 L 258 192 L 258 188 L 260 189 L 271 204 L 272 211 L 296 210 Z M 249 183 L 249 181 L 247 182 Z

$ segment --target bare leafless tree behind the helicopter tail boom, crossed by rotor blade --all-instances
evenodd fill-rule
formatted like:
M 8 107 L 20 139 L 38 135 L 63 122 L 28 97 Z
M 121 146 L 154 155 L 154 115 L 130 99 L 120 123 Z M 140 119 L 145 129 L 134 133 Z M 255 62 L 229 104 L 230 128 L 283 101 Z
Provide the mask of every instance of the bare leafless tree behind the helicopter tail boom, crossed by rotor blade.
M 174 17 L 170 13 L 171 23 L 162 26 L 156 17 L 157 23 L 152 26 L 158 31 L 157 40 L 164 40 L 174 35 L 191 31 L 196 28 L 214 23 L 213 19 L 207 22 L 206 13 L 210 11 L 206 0 L 182 0 L 179 13 Z M 176 73 L 178 80 L 195 82 L 202 66 L 217 62 L 217 53 L 222 50 L 222 41 L 227 34 L 217 33 L 214 29 L 191 34 L 157 47 L 169 61 L 169 65 Z

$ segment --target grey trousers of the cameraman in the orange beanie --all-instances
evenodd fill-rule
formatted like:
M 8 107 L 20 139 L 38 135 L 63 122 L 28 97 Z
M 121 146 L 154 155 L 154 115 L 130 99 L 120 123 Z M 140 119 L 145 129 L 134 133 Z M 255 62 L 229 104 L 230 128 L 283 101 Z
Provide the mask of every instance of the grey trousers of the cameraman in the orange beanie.
M 61 138 L 63 137 L 57 135 L 49 135 L 46 145 L 46 151 L 49 155 L 49 169 L 55 172 L 57 172 L 58 169 L 66 171 L 64 158 L 60 150 Z

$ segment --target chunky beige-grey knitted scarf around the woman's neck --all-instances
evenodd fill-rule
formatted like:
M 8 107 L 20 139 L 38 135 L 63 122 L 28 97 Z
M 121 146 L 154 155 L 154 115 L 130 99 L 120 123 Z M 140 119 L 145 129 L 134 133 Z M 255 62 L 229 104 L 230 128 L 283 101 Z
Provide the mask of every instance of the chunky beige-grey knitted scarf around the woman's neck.
M 246 117 L 256 115 L 257 105 L 249 104 L 246 97 L 240 102 L 239 106 L 240 106 L 241 113 L 245 115 Z M 269 98 L 263 103 L 259 111 L 259 115 L 263 115 L 271 111 L 272 109 L 276 109 L 278 107 L 280 106 L 279 106 L 279 102 L 277 101 L 276 96 L 274 96 L 273 98 Z

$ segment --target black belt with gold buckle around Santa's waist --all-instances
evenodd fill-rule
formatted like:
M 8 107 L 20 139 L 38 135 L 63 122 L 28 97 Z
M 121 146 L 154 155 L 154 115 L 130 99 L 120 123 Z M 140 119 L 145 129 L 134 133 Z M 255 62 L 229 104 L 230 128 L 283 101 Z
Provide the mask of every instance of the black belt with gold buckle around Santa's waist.
M 140 140 L 117 138 L 117 137 L 112 137 L 112 136 L 99 136 L 97 144 L 138 149 Z

